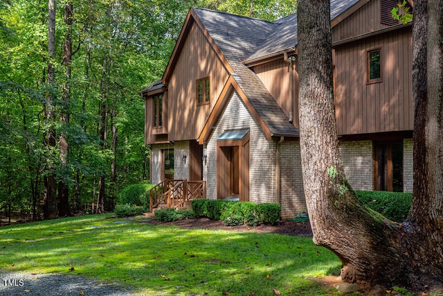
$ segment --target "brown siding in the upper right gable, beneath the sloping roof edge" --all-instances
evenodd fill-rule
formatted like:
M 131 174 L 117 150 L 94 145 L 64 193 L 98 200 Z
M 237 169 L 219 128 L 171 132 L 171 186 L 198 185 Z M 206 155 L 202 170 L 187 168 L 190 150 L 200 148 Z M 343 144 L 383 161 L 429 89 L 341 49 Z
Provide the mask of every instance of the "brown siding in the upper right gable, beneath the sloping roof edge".
M 332 28 L 332 42 L 388 28 L 381 24 L 381 0 L 369 1 Z M 393 8 L 393 7 L 392 7 Z M 398 23 L 397 23 L 398 24 Z

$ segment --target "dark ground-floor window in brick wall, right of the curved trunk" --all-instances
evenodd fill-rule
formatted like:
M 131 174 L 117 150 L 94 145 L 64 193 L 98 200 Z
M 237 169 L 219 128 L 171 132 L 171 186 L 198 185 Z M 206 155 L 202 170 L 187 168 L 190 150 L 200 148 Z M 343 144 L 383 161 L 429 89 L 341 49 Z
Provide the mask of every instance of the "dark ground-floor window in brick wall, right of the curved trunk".
M 403 191 L 403 143 L 374 144 L 374 190 Z

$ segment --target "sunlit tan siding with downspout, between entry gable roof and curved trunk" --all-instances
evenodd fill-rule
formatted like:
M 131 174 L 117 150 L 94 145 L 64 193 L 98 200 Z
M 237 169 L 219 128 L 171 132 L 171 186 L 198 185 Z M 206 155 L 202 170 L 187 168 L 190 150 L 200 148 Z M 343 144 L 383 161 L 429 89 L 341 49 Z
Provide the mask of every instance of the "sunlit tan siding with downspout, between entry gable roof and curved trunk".
M 293 123 L 298 128 L 298 72 L 294 66 L 293 72 Z M 268 64 L 260 64 L 253 71 L 262 80 L 284 114 L 289 117 L 289 64 L 277 60 Z

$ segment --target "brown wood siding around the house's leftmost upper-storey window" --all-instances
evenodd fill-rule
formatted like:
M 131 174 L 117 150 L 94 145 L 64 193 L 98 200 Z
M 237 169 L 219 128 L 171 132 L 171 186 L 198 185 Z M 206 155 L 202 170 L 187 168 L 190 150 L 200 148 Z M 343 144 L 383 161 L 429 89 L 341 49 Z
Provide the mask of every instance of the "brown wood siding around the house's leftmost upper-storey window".
M 145 100 L 145 144 L 164 143 L 165 134 L 168 134 L 168 91 L 162 94 L 162 112 L 163 125 L 159 128 L 154 128 L 154 100 L 150 96 Z

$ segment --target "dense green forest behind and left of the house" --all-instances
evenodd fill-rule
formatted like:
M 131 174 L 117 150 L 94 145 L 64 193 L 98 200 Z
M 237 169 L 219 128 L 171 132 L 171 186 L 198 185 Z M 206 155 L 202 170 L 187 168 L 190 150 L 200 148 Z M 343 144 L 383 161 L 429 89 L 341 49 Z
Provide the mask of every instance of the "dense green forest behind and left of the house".
M 111 211 L 149 182 L 139 92 L 163 75 L 190 6 L 296 12 L 295 0 L 1 1 L 0 214 Z

